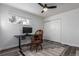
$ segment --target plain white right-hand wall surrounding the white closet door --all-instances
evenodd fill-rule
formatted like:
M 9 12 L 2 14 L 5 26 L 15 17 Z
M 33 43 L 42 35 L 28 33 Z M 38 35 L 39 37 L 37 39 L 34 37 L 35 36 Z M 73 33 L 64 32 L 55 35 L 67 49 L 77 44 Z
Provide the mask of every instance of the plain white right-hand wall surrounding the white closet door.
M 53 21 L 53 20 L 55 21 L 57 19 L 61 19 L 60 42 L 63 44 L 79 47 L 79 9 L 74 9 L 68 12 L 64 12 L 55 16 L 48 17 L 45 19 L 45 22 Z M 47 29 L 49 29 L 49 27 Z M 51 39 L 52 38 L 53 35 Z

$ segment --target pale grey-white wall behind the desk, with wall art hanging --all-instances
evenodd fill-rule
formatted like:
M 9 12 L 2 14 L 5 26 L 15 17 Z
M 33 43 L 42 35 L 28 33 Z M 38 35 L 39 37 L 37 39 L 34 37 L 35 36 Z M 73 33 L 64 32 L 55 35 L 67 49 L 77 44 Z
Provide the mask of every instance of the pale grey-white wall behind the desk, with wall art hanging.
M 9 23 L 9 13 L 26 17 L 30 20 L 30 26 L 33 27 L 33 33 L 37 29 L 43 28 L 43 18 L 31 13 L 7 6 L 0 5 L 1 10 L 1 30 L 0 30 L 0 50 L 11 48 L 18 45 L 18 39 L 14 35 L 21 33 L 22 24 Z M 25 41 L 26 42 L 26 41 Z

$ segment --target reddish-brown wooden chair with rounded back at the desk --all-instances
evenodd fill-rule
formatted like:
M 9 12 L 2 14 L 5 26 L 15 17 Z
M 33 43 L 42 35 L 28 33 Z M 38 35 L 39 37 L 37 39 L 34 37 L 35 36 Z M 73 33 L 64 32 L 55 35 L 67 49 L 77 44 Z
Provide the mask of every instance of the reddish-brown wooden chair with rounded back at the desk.
M 43 43 L 43 30 L 37 30 L 32 38 L 30 50 L 35 49 L 37 52 L 39 47 L 43 49 L 42 43 Z

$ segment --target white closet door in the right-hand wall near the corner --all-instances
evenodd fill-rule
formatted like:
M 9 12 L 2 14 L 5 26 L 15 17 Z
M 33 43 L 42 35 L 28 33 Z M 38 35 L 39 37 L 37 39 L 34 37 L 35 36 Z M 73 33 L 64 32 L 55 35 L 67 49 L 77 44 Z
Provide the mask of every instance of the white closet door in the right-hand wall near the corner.
M 61 42 L 61 20 L 45 22 L 44 37 L 51 41 Z

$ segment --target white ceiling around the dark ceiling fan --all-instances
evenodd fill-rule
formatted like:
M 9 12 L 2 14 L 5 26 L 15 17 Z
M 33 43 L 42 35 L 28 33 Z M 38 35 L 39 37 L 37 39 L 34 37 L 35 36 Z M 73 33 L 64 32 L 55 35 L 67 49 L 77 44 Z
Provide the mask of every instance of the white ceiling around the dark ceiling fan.
M 50 6 L 56 5 L 57 8 L 49 9 L 45 13 L 41 13 L 41 10 L 43 8 L 37 3 L 6 3 L 6 4 L 12 7 L 42 16 L 42 17 L 49 17 L 52 15 L 56 15 L 62 12 L 66 12 L 72 9 L 79 8 L 79 3 L 46 3 Z

